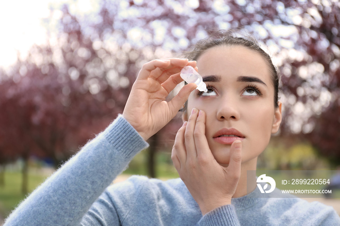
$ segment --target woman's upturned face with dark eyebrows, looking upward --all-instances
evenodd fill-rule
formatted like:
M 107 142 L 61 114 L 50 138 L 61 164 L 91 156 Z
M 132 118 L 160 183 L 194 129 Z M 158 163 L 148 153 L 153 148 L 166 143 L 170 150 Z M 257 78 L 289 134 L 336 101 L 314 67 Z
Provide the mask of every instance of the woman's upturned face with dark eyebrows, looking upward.
M 229 164 L 231 143 L 236 139 L 242 141 L 242 163 L 256 159 L 281 123 L 281 103 L 274 108 L 266 61 L 242 46 L 218 46 L 205 51 L 197 67 L 208 92 L 190 94 L 187 114 L 193 108 L 206 113 L 205 136 L 216 161 Z

